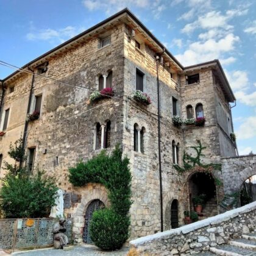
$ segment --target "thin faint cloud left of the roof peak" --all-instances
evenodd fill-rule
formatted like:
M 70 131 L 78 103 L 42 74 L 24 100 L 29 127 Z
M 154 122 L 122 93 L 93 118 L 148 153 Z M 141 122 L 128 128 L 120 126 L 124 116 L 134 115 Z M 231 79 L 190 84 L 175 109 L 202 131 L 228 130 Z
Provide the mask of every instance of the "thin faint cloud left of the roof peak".
M 41 29 L 37 32 L 30 32 L 26 35 L 27 40 L 35 41 L 35 40 L 57 40 L 60 42 L 66 41 L 71 37 L 79 34 L 84 30 L 84 27 L 80 27 L 77 29 L 73 26 L 67 26 L 63 29 Z

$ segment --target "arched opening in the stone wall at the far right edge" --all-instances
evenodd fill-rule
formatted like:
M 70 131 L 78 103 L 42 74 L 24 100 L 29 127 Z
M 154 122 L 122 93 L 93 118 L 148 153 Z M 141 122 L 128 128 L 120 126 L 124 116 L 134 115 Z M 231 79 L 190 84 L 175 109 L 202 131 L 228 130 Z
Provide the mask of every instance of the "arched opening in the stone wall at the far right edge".
M 240 190 L 241 206 L 256 201 L 256 174 L 244 180 Z

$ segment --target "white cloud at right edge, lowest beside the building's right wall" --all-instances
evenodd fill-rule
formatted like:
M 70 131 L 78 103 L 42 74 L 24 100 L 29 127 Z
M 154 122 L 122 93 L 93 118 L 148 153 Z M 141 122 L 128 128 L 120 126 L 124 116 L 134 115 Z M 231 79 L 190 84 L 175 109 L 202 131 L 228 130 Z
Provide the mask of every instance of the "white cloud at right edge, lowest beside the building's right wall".
M 256 116 L 244 118 L 244 122 L 236 131 L 236 135 L 238 140 L 256 137 Z

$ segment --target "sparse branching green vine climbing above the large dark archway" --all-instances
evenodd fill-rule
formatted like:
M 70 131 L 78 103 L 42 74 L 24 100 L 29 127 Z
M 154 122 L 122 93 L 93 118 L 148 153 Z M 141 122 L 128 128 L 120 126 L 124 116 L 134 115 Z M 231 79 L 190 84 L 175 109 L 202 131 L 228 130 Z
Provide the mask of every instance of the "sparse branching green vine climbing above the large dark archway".
M 209 174 L 212 173 L 214 170 L 221 171 L 221 163 L 208 163 L 204 164 L 201 162 L 201 157 L 204 156 L 202 151 L 206 149 L 206 147 L 203 147 L 200 140 L 197 140 L 196 143 L 198 146 L 191 146 L 190 148 L 194 149 L 196 151 L 196 157 L 193 157 L 189 155 L 186 151 L 183 152 L 183 166 L 181 167 L 177 164 L 174 164 L 174 168 L 179 172 L 183 173 L 185 171 L 198 171 L 198 172 L 207 172 Z M 221 180 L 215 177 L 215 184 L 216 185 L 222 185 Z

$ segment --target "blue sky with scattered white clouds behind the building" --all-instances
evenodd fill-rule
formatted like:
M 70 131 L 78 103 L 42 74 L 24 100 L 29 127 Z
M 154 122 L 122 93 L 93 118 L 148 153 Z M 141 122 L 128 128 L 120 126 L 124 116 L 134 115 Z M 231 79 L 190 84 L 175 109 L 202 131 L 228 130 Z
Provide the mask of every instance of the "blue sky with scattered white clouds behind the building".
M 255 0 L 1 0 L 0 60 L 23 66 L 125 7 L 182 65 L 221 61 L 238 150 L 256 153 Z M 0 79 L 12 71 L 0 66 Z

